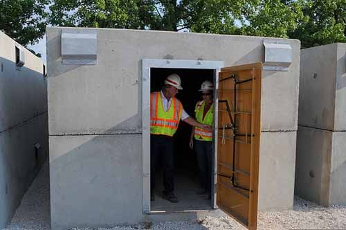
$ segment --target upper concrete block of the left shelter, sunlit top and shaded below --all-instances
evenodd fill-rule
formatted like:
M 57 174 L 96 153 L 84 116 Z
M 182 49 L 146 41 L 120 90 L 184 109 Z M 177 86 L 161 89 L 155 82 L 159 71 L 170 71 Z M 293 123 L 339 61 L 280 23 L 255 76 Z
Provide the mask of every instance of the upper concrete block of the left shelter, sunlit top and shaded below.
M 0 31 L 0 132 L 47 112 L 44 63 L 24 49 L 25 64 L 16 70 L 15 44 Z

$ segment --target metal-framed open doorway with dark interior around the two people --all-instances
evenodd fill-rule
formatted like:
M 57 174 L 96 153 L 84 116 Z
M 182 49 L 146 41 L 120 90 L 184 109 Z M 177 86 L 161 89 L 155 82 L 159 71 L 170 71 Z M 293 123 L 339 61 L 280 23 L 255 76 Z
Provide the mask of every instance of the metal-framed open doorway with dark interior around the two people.
M 160 91 L 164 84 L 165 78 L 170 73 L 176 73 L 181 77 L 183 90 L 176 95 L 183 105 L 185 112 L 194 117 L 194 106 L 198 100 L 201 100 L 199 89 L 203 80 L 214 82 L 214 100 L 217 91 L 217 79 L 224 62 L 220 61 L 203 61 L 203 60 L 142 60 L 142 125 L 143 125 L 143 213 L 165 213 L 174 211 L 199 211 L 217 208 L 215 186 L 212 186 L 211 200 L 188 200 L 189 195 L 199 198 L 195 193 L 199 186 L 199 172 L 197 166 L 196 154 L 190 150 L 189 141 L 191 126 L 183 121 L 179 123 L 179 129 L 174 134 L 175 146 L 175 173 L 174 173 L 174 193 L 179 199 L 178 203 L 171 203 L 162 199 L 163 191 L 163 174 L 158 166 L 156 173 L 155 204 L 150 202 L 150 93 Z M 214 111 L 217 111 L 217 103 L 213 105 Z M 214 123 L 217 123 L 217 116 L 214 114 Z M 213 134 L 216 128 L 214 125 Z M 213 135 L 215 136 L 215 135 Z M 217 145 L 213 145 L 212 150 L 212 185 L 216 179 L 215 157 Z M 162 167 L 161 167 L 162 168 Z M 183 188 L 183 189 L 181 189 Z M 185 188 L 185 189 L 184 189 Z M 161 200 L 162 199 L 162 200 Z

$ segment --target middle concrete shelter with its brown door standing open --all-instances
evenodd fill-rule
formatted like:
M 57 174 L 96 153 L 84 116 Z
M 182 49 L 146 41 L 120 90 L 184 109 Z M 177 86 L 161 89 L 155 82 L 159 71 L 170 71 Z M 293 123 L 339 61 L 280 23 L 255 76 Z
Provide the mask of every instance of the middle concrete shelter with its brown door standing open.
M 245 218 L 242 223 L 255 229 L 257 199 L 259 210 L 293 208 L 298 40 L 91 28 L 47 28 L 46 35 L 53 229 L 195 218 L 212 215 L 220 205 L 233 206 L 222 210 L 238 220 Z M 201 82 L 215 82 L 211 201 L 200 201 L 193 193 L 198 179 L 193 177 L 194 157 L 183 138 L 190 135 L 190 127 L 183 122 L 174 137 L 179 149 L 175 192 L 180 202 L 171 204 L 159 196 L 155 202 L 149 199 L 149 94 L 160 89 L 169 73 L 181 76 L 184 89 L 177 97 L 191 116 Z M 248 83 L 237 87 L 235 79 Z M 230 134 L 230 126 L 219 125 L 228 116 L 221 99 L 228 95 L 231 100 L 233 95 L 227 91 L 239 94 L 233 98 L 236 108 L 227 110 L 230 115 L 235 116 L 235 109 L 248 110 L 239 112 L 237 121 L 257 114 L 248 123 L 235 123 L 238 131 L 246 125 L 255 130 L 236 140 L 237 146 L 251 143 L 251 149 L 244 150 L 252 153 L 248 165 L 258 166 L 260 159 L 259 176 L 258 167 L 251 173 L 235 172 L 237 183 L 242 184 L 242 178 L 244 184 L 250 183 L 247 194 L 233 189 L 250 208 L 234 200 L 226 204 L 224 198 L 233 195 L 216 185 L 230 181 L 222 176 L 229 173 L 230 162 L 228 169 L 219 163 L 232 156 L 231 147 L 225 148 L 230 140 L 225 135 L 220 138 Z

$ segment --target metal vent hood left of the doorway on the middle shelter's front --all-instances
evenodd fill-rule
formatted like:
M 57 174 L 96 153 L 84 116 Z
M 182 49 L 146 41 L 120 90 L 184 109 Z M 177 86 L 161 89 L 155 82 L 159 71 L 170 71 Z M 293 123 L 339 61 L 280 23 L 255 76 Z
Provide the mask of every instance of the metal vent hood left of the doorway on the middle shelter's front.
M 97 64 L 96 30 L 62 30 L 62 64 Z

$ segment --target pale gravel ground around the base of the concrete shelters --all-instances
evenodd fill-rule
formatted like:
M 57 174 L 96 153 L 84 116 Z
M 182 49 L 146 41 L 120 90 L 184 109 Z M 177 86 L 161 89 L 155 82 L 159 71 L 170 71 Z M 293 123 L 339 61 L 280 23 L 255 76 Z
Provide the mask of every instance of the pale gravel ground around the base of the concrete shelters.
M 33 185 L 28 189 L 17 209 L 12 222 L 3 230 L 49 230 L 49 178 L 48 164 L 39 172 Z M 289 211 L 260 211 L 257 229 L 346 229 L 346 206 L 324 208 L 312 202 L 295 197 L 294 208 Z M 107 230 L 229 230 L 246 229 L 232 218 L 200 218 L 194 222 L 145 223 L 132 227 L 114 227 Z M 74 229 L 91 230 L 91 229 Z M 93 229 L 95 230 L 95 229 Z M 106 229 L 98 229 L 106 230 Z

